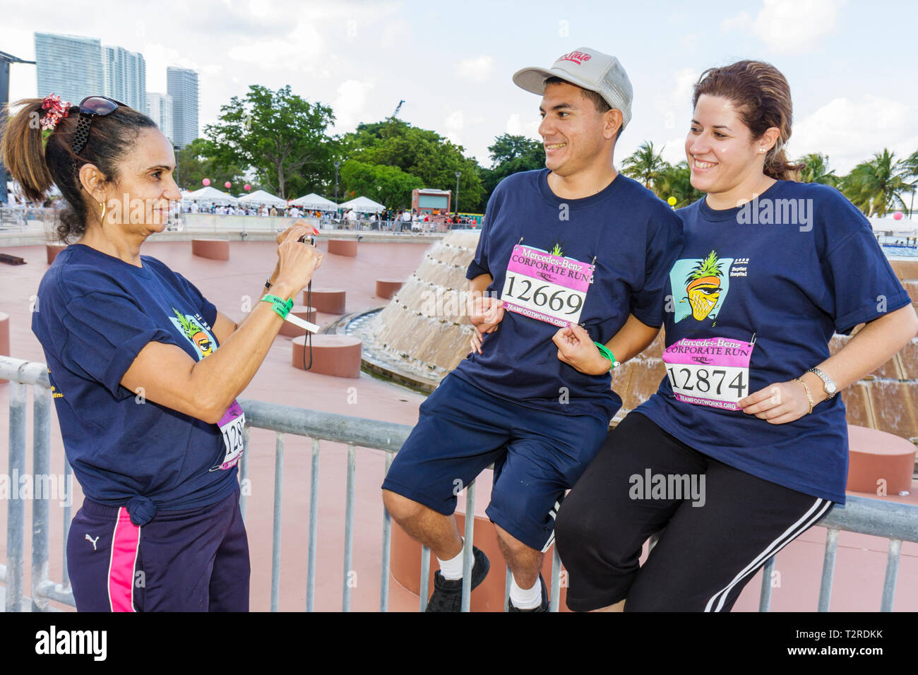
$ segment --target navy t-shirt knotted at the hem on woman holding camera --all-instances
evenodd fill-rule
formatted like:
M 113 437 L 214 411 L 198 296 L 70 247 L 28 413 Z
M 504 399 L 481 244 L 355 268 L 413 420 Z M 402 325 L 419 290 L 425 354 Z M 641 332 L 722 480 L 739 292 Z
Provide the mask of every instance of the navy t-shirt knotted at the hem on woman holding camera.
M 207 506 L 235 489 L 236 467 L 208 424 L 119 383 L 147 343 L 196 361 L 217 349 L 217 309 L 185 277 L 140 256 L 136 267 L 73 244 L 41 279 L 32 332 L 44 349 L 67 458 L 86 497 L 127 506 L 135 524 L 156 511 Z

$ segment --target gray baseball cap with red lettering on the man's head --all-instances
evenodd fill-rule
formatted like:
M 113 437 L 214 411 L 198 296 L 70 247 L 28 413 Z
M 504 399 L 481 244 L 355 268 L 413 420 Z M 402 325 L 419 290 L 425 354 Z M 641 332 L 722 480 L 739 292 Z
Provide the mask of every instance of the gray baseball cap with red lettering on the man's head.
M 599 93 L 611 107 L 621 110 L 621 129 L 631 120 L 631 80 L 614 56 L 579 47 L 559 56 L 548 70 L 532 66 L 513 73 L 513 82 L 532 94 L 541 95 L 549 77 L 560 77 L 565 82 Z

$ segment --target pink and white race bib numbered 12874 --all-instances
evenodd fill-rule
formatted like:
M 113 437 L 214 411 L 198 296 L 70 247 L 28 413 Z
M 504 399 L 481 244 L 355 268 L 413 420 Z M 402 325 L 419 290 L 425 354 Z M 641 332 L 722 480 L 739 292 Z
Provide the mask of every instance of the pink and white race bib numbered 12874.
M 753 342 L 732 338 L 683 338 L 663 352 L 666 375 L 676 398 L 694 405 L 738 411 L 749 395 Z

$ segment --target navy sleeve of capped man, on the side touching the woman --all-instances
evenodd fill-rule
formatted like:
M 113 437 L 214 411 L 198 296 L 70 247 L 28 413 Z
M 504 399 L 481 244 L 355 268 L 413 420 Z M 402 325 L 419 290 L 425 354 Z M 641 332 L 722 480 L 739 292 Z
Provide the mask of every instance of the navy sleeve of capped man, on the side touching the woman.
M 659 328 L 663 325 L 666 282 L 681 250 L 682 220 L 675 213 L 666 213 L 647 240 L 644 287 L 632 294 L 629 308 L 645 326 Z

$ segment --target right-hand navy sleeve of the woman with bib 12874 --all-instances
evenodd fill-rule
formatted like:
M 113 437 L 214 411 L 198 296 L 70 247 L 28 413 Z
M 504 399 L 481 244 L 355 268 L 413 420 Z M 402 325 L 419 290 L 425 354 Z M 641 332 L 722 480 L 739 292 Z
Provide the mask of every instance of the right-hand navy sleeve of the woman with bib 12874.
M 823 277 L 830 294 L 824 306 L 834 309 L 835 331 L 845 335 L 859 323 L 874 321 L 912 302 L 866 218 L 826 253 Z

